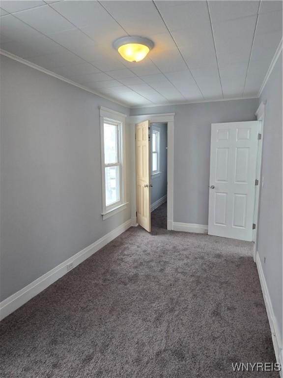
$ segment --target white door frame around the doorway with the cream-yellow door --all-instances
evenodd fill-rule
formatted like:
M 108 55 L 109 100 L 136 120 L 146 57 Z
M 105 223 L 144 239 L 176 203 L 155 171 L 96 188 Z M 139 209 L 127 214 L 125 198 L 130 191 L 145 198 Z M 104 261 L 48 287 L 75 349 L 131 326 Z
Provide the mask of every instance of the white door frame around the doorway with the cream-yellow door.
M 162 113 L 162 114 L 143 114 L 137 116 L 129 116 L 128 124 L 131 130 L 131 156 L 135 157 L 131 161 L 131 218 L 137 220 L 137 199 L 136 199 L 136 124 L 149 120 L 150 124 L 163 123 L 167 124 L 167 229 L 172 230 L 173 226 L 173 198 L 174 198 L 174 115 L 175 113 Z

